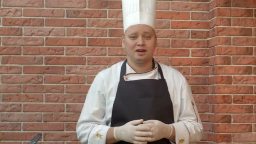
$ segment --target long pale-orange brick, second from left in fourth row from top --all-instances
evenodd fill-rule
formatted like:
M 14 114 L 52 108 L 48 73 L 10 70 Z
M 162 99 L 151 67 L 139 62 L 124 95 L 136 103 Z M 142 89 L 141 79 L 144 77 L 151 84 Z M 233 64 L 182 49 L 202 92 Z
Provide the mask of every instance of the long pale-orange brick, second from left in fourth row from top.
M 64 36 L 64 28 L 24 28 L 24 35 L 27 36 Z

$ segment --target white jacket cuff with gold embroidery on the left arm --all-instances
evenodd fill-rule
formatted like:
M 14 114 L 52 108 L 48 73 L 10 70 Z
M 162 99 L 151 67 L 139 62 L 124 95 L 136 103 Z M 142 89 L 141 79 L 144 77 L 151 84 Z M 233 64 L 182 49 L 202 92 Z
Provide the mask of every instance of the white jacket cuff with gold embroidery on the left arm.
M 107 125 L 96 125 L 89 134 L 88 144 L 106 144 L 109 128 Z

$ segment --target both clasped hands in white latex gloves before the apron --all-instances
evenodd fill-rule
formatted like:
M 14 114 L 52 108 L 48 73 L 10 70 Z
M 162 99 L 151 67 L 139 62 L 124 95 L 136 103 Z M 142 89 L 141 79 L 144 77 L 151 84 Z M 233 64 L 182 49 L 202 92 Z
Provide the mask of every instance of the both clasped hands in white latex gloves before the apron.
M 133 144 L 147 144 L 150 141 L 168 139 L 173 128 L 159 120 L 133 120 L 114 128 L 117 141 L 126 141 Z

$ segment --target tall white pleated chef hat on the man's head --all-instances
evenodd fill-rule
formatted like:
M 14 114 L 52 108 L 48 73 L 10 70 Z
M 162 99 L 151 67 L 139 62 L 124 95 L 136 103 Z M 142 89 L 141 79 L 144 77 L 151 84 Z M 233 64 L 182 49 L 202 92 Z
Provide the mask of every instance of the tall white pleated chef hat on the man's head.
M 135 24 L 147 24 L 155 29 L 156 0 L 122 0 L 123 30 Z

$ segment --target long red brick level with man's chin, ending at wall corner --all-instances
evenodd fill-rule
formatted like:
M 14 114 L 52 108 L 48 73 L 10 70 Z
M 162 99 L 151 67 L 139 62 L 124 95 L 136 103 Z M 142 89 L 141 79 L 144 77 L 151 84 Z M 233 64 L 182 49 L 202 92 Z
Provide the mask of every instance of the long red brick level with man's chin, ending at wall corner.
M 172 58 L 172 66 L 207 66 L 208 58 Z

